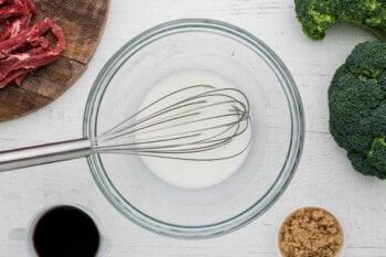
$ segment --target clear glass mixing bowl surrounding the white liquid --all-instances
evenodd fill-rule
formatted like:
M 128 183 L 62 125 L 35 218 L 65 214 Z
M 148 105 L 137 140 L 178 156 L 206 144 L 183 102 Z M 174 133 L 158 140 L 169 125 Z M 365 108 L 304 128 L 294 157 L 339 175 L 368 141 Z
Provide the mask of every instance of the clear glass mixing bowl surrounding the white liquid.
M 141 33 L 107 62 L 89 94 L 84 137 L 135 114 L 159 81 L 185 71 L 216 74 L 247 95 L 253 141 L 237 172 L 187 189 L 159 179 L 138 156 L 95 153 L 88 164 L 128 219 L 160 235 L 200 239 L 243 227 L 279 199 L 299 163 L 304 118 L 290 73 L 266 44 L 224 22 L 185 19 Z

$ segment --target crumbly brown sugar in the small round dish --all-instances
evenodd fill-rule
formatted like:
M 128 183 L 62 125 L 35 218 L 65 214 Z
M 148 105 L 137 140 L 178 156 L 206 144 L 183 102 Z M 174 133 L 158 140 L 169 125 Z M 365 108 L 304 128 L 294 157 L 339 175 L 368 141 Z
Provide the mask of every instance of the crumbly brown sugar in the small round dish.
M 335 257 L 343 232 L 336 218 L 318 207 L 300 208 L 281 225 L 279 246 L 285 257 Z

